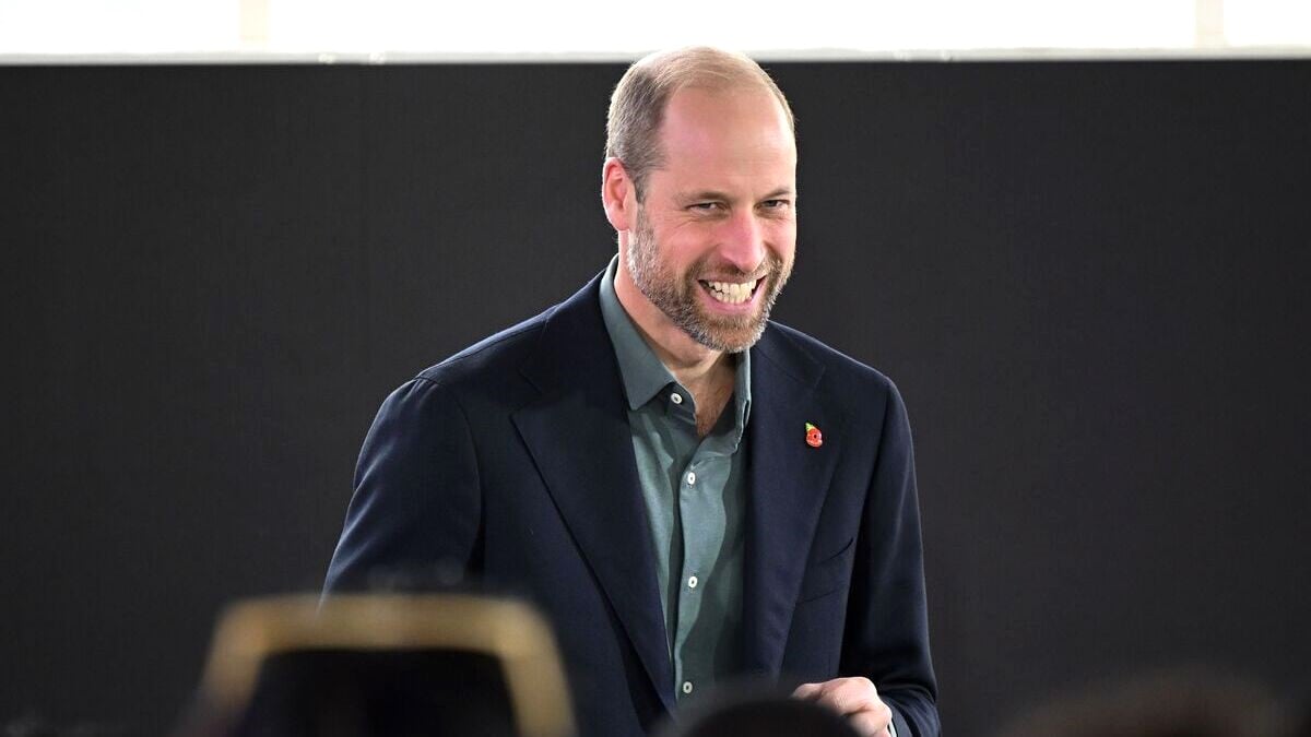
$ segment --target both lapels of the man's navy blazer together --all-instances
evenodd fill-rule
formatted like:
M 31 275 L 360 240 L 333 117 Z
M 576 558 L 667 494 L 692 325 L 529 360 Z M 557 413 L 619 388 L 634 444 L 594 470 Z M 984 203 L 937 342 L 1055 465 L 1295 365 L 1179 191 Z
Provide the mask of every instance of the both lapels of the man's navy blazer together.
M 673 665 L 625 389 L 599 306 L 602 275 L 557 306 L 522 367 L 541 392 L 513 416 L 560 513 L 666 708 Z M 777 674 L 829 481 L 842 450 L 823 366 L 771 324 L 751 349 L 743 664 Z M 806 424 L 823 445 L 806 443 Z

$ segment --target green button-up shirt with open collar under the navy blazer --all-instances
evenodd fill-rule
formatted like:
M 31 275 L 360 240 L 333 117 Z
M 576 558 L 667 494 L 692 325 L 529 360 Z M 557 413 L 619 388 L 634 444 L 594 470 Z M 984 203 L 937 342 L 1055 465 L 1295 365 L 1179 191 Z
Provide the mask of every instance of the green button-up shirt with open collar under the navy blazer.
M 704 438 L 696 404 L 637 332 L 615 295 L 610 261 L 600 312 L 628 395 L 633 458 L 646 502 L 665 632 L 679 700 L 742 665 L 742 521 L 751 355 L 738 354 L 733 400 Z

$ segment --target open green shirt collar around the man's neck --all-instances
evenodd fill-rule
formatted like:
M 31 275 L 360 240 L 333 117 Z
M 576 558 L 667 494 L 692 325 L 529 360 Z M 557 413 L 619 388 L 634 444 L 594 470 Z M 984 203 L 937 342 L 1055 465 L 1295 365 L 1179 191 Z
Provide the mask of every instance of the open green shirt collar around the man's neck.
M 619 374 L 628 395 L 628 408 L 637 409 L 670 384 L 679 386 L 669 368 L 661 363 L 656 351 L 646 344 L 628 311 L 619 303 L 615 294 L 615 274 L 619 271 L 619 256 L 610 260 L 606 275 L 600 279 L 600 316 L 606 321 L 606 332 L 615 346 L 619 361 Z M 680 387 L 682 388 L 682 387 Z M 686 389 L 684 389 L 686 391 Z M 738 354 L 737 375 L 733 384 L 733 409 L 738 434 L 746 428 L 751 412 L 751 351 Z

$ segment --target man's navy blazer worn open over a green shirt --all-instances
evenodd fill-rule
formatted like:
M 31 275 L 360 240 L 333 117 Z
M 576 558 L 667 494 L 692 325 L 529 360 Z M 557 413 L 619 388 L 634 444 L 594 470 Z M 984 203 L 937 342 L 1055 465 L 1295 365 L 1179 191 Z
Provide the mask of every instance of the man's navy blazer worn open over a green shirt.
M 326 591 L 455 567 L 556 627 L 579 733 L 675 706 L 654 546 L 599 278 L 383 403 Z M 939 734 L 910 426 L 884 375 L 771 323 L 751 349 L 747 674 L 868 677 L 899 737 Z M 806 424 L 821 429 L 806 443 Z

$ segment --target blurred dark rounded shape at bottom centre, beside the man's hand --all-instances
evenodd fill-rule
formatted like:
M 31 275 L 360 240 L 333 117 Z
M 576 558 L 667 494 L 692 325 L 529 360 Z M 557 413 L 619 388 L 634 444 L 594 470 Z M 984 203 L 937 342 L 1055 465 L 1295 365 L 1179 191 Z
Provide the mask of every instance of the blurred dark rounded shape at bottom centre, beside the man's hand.
M 707 694 L 678 713 L 658 737 L 860 737 L 830 708 L 764 686 Z

